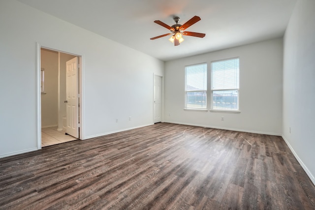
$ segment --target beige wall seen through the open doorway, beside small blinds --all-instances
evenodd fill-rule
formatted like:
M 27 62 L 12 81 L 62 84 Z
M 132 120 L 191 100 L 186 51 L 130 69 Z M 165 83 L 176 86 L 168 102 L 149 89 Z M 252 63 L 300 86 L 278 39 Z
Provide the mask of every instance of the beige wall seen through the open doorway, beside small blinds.
M 58 124 L 58 53 L 40 50 L 41 68 L 44 68 L 44 91 L 41 94 L 41 127 Z

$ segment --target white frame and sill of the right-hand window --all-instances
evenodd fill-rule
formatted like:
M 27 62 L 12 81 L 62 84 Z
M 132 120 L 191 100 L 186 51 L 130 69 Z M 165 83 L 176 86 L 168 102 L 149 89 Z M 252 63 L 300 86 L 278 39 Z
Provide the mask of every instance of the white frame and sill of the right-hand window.
M 213 63 L 215 62 L 221 62 L 221 61 L 226 61 L 226 60 L 235 60 L 238 59 L 238 88 L 226 88 L 226 89 L 214 89 L 213 88 Z M 213 60 L 210 63 L 210 81 L 211 81 L 211 88 L 210 88 L 210 92 L 211 92 L 211 97 L 210 97 L 210 110 L 211 112 L 232 112 L 232 113 L 240 113 L 240 58 L 239 57 L 234 57 L 234 58 L 228 58 L 228 59 L 223 59 L 223 60 Z M 237 91 L 237 109 L 214 109 L 214 92 L 215 91 L 233 91 L 236 90 Z

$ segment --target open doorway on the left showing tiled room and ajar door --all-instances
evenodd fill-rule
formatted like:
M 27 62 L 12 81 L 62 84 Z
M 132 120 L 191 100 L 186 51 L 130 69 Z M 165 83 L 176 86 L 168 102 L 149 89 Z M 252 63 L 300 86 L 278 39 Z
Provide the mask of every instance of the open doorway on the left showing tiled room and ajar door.
M 40 47 L 40 148 L 80 138 L 80 58 Z

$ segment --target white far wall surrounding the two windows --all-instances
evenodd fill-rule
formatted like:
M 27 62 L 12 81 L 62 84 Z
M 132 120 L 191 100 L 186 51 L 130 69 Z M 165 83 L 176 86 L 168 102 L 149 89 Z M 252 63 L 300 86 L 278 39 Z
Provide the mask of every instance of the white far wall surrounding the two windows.
M 165 121 L 281 135 L 283 40 L 273 39 L 165 63 Z M 186 111 L 185 65 L 240 58 L 241 113 Z M 208 75 L 210 81 L 210 75 Z M 208 87 L 210 84 L 208 83 Z M 210 107 L 209 107 L 210 108 Z M 221 121 L 221 116 L 224 121 Z

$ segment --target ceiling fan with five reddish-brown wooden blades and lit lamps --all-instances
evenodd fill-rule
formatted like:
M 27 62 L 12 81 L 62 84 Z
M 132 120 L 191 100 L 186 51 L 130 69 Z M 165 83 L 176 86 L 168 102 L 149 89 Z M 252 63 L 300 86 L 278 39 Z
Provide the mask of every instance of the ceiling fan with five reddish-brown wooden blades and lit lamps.
M 185 36 L 196 36 L 196 37 L 200 37 L 200 38 L 203 38 L 205 37 L 205 33 L 197 33 L 197 32 L 190 32 L 190 31 L 183 31 L 183 30 L 186 30 L 189 26 L 197 23 L 198 21 L 200 21 L 200 17 L 198 16 L 194 16 L 192 17 L 189 21 L 187 21 L 184 25 L 181 25 L 181 24 L 178 24 L 178 22 L 180 21 L 180 18 L 177 17 L 177 16 L 174 16 L 174 21 L 175 21 L 175 25 L 173 26 L 168 26 L 167 24 L 157 20 L 157 21 L 154 21 L 156 24 L 168 29 L 168 30 L 171 30 L 171 33 L 166 33 L 166 34 L 163 34 L 163 35 L 159 35 L 159 36 L 156 36 L 156 37 L 153 37 L 153 38 L 150 38 L 151 40 L 154 40 L 154 39 L 157 39 L 157 38 L 161 38 L 161 37 L 164 37 L 164 36 L 168 36 L 168 35 L 172 35 L 171 38 L 169 38 L 168 40 L 171 41 L 172 43 L 174 43 L 175 46 L 178 46 L 180 45 L 180 43 L 182 41 L 184 41 L 184 38 L 182 37 L 182 35 L 185 35 Z

